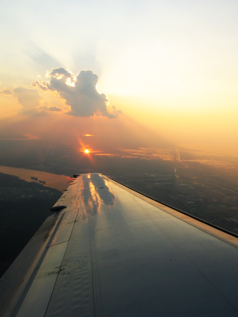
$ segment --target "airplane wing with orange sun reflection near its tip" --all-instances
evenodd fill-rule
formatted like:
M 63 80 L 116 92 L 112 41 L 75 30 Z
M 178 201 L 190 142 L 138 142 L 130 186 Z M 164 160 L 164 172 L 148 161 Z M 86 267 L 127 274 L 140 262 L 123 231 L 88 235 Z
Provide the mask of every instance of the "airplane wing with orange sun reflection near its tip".
M 236 236 L 75 177 L 0 279 L 0 316 L 238 316 Z

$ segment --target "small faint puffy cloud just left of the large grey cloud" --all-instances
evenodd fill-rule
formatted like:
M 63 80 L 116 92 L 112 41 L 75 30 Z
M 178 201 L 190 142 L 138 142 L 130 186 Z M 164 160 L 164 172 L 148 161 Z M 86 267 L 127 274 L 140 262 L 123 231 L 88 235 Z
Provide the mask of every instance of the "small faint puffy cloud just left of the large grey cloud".
M 40 106 L 41 96 L 34 89 L 19 86 L 14 89 L 19 104 L 23 106 L 22 111 L 34 110 Z

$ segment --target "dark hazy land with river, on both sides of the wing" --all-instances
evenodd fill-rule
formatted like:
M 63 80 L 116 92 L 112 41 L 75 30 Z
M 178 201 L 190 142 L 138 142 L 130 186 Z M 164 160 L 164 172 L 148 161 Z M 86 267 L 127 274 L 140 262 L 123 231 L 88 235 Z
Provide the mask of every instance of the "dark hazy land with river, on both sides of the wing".
M 5 158 L 0 159 L 3 162 Z M 11 167 L 0 166 L 0 273 L 49 216 L 49 209 L 61 195 L 57 189 L 65 189 L 74 173 L 105 173 L 157 201 L 238 235 L 236 157 L 188 149 L 139 149 L 130 151 L 130 157 L 84 156 L 63 165 L 56 151 L 52 160 L 16 160 Z

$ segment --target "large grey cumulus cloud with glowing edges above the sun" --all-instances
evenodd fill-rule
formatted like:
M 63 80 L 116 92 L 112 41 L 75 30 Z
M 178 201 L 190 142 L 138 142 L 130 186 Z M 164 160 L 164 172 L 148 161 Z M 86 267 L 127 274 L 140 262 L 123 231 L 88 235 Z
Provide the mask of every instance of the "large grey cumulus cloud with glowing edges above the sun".
M 104 115 L 116 118 L 121 112 L 110 106 L 106 94 L 98 92 L 98 76 L 92 70 L 81 70 L 75 76 L 69 70 L 60 67 L 53 68 L 48 76 L 50 81 L 35 81 L 32 86 L 43 91 L 58 92 L 71 107 L 68 114 L 83 117 Z

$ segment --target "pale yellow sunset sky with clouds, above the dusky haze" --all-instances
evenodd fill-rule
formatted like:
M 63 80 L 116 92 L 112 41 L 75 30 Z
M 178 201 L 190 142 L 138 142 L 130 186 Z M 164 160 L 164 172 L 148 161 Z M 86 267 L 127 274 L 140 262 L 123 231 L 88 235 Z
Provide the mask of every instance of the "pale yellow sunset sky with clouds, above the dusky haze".
M 2 126 L 74 117 L 80 133 L 96 120 L 238 156 L 237 13 L 237 0 L 1 0 Z

